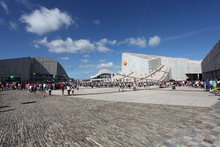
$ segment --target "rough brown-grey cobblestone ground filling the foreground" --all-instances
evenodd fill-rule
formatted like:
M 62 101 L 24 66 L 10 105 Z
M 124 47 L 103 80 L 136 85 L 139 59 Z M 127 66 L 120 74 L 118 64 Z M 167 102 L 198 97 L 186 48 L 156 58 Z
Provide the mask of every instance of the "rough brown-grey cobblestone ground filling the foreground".
M 0 92 L 0 146 L 220 147 L 211 108 Z

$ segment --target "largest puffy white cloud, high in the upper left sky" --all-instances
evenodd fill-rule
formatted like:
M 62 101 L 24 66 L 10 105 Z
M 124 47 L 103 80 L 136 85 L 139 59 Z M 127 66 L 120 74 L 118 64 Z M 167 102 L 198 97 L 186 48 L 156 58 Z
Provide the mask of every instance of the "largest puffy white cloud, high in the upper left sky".
M 58 8 L 47 9 L 45 7 L 33 11 L 31 14 L 22 15 L 20 20 L 27 24 L 28 32 L 38 35 L 57 31 L 61 27 L 68 27 L 74 23 L 66 12 L 61 12 Z

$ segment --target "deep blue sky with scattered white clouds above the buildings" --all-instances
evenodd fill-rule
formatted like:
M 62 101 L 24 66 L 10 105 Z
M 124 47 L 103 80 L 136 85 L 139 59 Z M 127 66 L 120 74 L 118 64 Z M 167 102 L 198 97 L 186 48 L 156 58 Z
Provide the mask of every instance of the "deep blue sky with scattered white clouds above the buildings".
M 0 59 L 51 57 L 70 77 L 118 72 L 121 53 L 202 60 L 219 0 L 0 0 Z

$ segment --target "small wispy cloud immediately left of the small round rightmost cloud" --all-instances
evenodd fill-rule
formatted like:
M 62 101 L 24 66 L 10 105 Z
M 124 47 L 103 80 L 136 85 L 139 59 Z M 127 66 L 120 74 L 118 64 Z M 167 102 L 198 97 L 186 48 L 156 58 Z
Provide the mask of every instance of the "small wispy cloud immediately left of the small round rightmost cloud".
M 118 44 L 127 44 L 129 46 L 137 46 L 141 48 L 145 48 L 147 46 L 147 40 L 144 37 L 138 38 L 127 38 L 124 41 L 120 41 Z

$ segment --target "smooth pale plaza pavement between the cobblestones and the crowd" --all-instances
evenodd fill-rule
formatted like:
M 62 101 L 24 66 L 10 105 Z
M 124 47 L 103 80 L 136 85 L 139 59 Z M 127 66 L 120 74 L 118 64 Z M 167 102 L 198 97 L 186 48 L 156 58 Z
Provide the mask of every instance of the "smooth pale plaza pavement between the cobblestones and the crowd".
M 54 95 L 61 95 L 61 90 L 54 90 Z M 65 91 L 67 95 L 67 91 Z M 205 91 L 202 88 L 177 87 L 176 90 L 171 88 L 138 88 L 137 91 L 124 89 L 119 92 L 117 88 L 84 88 L 75 90 L 77 98 L 96 99 L 118 102 L 148 103 L 148 104 L 165 104 L 181 106 L 211 107 L 217 103 L 218 97 Z

